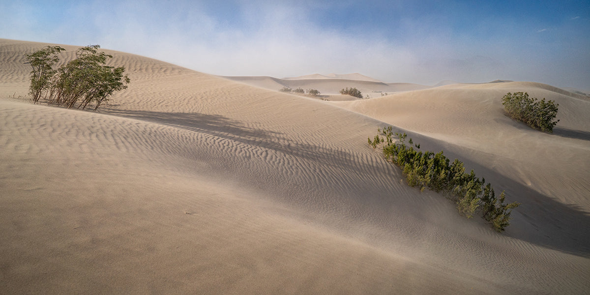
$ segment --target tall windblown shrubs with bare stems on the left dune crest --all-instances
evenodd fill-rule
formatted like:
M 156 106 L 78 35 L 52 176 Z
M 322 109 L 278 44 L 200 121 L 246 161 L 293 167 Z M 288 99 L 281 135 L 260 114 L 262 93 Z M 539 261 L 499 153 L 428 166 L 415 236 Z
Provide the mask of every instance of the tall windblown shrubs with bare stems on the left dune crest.
M 68 109 L 77 106 L 94 110 L 109 100 L 115 91 L 127 89 L 129 77 L 123 76 L 124 67 L 105 65 L 112 55 L 99 52 L 100 45 L 81 47 L 76 59 L 54 68 L 59 61 L 58 54 L 64 51 L 59 46 L 47 46 L 34 53 L 26 54 L 31 64 L 31 100 L 37 103 L 41 98 L 51 104 Z

